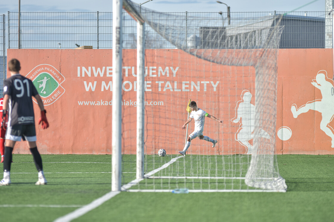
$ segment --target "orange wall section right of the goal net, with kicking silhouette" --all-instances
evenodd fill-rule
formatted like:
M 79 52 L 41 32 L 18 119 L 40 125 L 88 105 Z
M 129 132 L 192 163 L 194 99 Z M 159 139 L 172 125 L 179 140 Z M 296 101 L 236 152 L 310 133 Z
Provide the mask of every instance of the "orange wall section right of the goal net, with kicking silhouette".
M 332 135 L 334 126 L 331 122 L 334 115 L 334 100 L 330 99 L 334 95 L 332 53 L 332 49 L 280 49 L 279 51 L 277 128 L 287 126 L 292 131 L 289 140 L 277 139 L 277 147 L 278 149 L 282 147 L 283 154 L 334 154 L 332 138 L 325 133 L 326 131 Z M 318 72 L 327 73 L 326 82 L 330 83 L 323 93 L 312 85 Z M 329 99 L 321 101 L 324 96 L 322 94 L 325 93 Z M 314 100 L 318 100 L 319 103 L 313 103 Z M 293 104 L 297 108 L 308 104 L 311 109 L 305 109 L 304 111 L 308 111 L 294 118 L 291 111 Z

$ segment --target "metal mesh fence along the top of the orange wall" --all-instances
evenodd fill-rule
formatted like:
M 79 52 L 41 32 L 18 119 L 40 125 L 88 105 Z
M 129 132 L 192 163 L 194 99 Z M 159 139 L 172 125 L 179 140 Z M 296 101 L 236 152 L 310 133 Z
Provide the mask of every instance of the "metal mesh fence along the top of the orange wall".
M 160 12 L 150 12 L 160 19 Z M 166 14 L 166 13 L 165 13 Z M 332 46 L 332 19 L 327 12 L 231 12 L 228 24 L 225 12 L 167 13 L 187 28 L 209 27 L 237 30 L 239 21 L 266 17 L 274 25 L 284 15 L 280 48 L 325 48 Z M 136 48 L 137 22 L 123 12 L 123 47 Z M 256 21 L 254 21 L 256 22 Z M 203 25 L 205 23 L 205 25 Z M 112 48 L 112 12 L 8 12 L 8 48 Z M 217 30 L 218 30 L 217 29 Z M 198 38 L 203 33 L 198 33 Z M 197 35 L 197 34 L 196 34 Z M 327 38 L 330 36 L 330 38 Z M 196 36 L 195 36 L 196 37 Z M 151 27 L 145 27 L 146 48 L 175 48 Z

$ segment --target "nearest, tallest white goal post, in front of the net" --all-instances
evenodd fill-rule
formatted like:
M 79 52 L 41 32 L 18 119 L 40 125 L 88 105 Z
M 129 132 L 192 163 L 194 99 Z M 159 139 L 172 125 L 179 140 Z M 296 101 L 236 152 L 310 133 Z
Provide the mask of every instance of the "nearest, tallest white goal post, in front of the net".
M 111 190 L 121 190 L 122 173 L 122 0 L 113 0 L 113 108 Z

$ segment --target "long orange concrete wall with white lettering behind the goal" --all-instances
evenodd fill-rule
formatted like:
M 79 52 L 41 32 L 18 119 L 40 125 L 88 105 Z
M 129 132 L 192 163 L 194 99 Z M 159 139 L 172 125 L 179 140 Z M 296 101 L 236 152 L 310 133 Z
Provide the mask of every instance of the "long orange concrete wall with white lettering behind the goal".
M 112 92 L 110 88 L 106 89 L 106 86 L 112 81 L 112 50 L 8 49 L 7 54 L 8 60 L 17 58 L 21 61 L 22 75 L 34 80 L 39 74 L 48 73 L 47 75 L 52 76 L 55 80 L 52 93 L 43 94 L 43 88 L 36 87 L 44 100 L 50 123 L 50 128 L 47 130 L 40 130 L 39 127 L 36 127 L 37 145 L 42 154 L 111 154 L 112 106 L 110 104 L 84 106 L 79 105 L 78 102 L 111 102 Z M 123 58 L 123 66 L 136 67 L 136 50 L 124 50 Z M 219 145 L 215 149 L 207 148 L 210 145 L 206 141 L 193 140 L 191 147 L 205 148 L 196 151 L 192 148 L 189 149 L 190 153 L 246 153 L 245 146 L 235 139 L 237 131 L 240 130 L 240 124 L 233 123 L 231 120 L 235 117 L 235 107 L 241 100 L 240 96 L 244 90 L 253 94 L 251 103 L 254 104 L 255 71 L 253 67 L 212 65 L 176 49 L 146 50 L 145 66 L 162 67 L 163 69 L 167 67 L 170 73 L 168 77 L 166 75 L 158 77 L 156 76 L 158 68 L 151 69 L 148 70 L 148 76 L 145 79 L 150 82 L 148 91 L 145 92 L 145 100 L 164 101 L 163 106 L 146 106 L 148 114 L 145 126 L 147 153 L 156 153 L 161 144 L 164 144 L 163 148 L 167 150 L 167 153 L 176 153 L 177 150 L 183 148 L 180 147 L 180 144 L 184 144 L 185 131 L 181 130 L 181 126 L 187 118 L 184 116 L 184 103 L 189 98 L 196 98 L 193 100 L 198 101 L 200 108 L 203 107 L 203 110 L 224 121 L 223 124 L 218 124 L 212 120 L 205 120 L 207 135 L 219 140 Z M 87 74 L 89 67 L 91 76 Z M 101 76 L 97 70 L 100 68 L 102 71 L 103 67 L 104 74 Z M 172 70 L 176 67 L 178 67 L 177 71 Z M 125 70 L 127 70 L 127 75 Z M 328 132 L 328 130 L 333 131 L 330 127 L 331 117 L 334 115 L 334 112 L 331 114 L 331 110 L 334 110 L 332 108 L 334 103 L 330 103 L 332 88 L 328 88 L 328 92 L 324 90 L 329 95 L 326 101 L 316 103 L 318 105 L 310 105 L 314 100 L 322 100 L 322 92 L 313 85 L 320 70 L 327 72 L 328 78 L 325 79 L 325 82 L 333 86 L 331 49 L 280 49 L 277 129 L 276 135 L 273 135 L 276 136 L 278 154 L 334 154 L 334 148 L 331 147 L 332 134 Z M 97 76 L 94 76 L 94 71 L 98 73 Z M 175 76 L 173 76 L 173 71 L 176 73 Z M 326 73 L 325 71 L 321 73 Z M 205 84 L 201 83 L 200 90 L 192 91 L 191 87 L 187 86 L 187 82 L 192 80 L 195 82 L 212 81 L 212 84 L 216 86 L 213 87 L 211 83 L 207 83 L 207 88 L 204 90 Z M 123 69 L 123 82 L 125 81 L 128 81 L 125 88 L 129 89 L 130 83 L 132 88 L 123 92 L 123 99 L 133 102 L 136 100 L 134 90 L 136 77 L 132 75 L 131 68 Z M 157 81 L 164 83 L 159 85 Z M 171 83 L 171 87 L 166 85 L 167 81 Z M 95 90 L 88 89 L 89 84 L 93 86 L 95 82 Z M 175 82 L 177 86 L 173 85 Z M 184 89 L 182 89 L 183 82 Z M 104 90 L 102 90 L 103 84 L 105 84 Z M 163 89 L 166 86 L 167 89 L 164 92 Z M 305 113 L 294 118 L 291 111 L 293 104 L 298 110 L 301 108 Z M 169 111 L 170 109 L 173 109 L 173 112 Z M 136 150 L 136 107 L 127 106 L 123 108 L 123 111 L 123 139 L 125 141 L 123 153 L 134 154 Z M 35 104 L 35 115 L 36 119 L 39 118 L 37 104 Z M 327 119 L 328 116 L 331 117 L 329 120 L 322 121 L 324 115 Z M 166 116 L 168 118 L 165 118 Z M 325 124 L 328 121 L 329 124 Z M 191 130 L 193 130 L 193 122 L 189 124 L 188 134 Z M 284 133 L 283 137 L 282 133 Z M 28 153 L 26 144 L 17 143 L 14 152 Z

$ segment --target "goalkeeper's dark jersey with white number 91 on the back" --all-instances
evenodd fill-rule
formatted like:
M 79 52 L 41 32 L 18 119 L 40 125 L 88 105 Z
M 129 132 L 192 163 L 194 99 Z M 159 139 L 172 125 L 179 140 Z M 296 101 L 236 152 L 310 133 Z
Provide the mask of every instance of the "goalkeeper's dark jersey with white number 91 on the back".
M 12 75 L 3 81 L 3 94 L 9 95 L 8 126 L 35 124 L 31 96 L 38 92 L 30 79 Z

